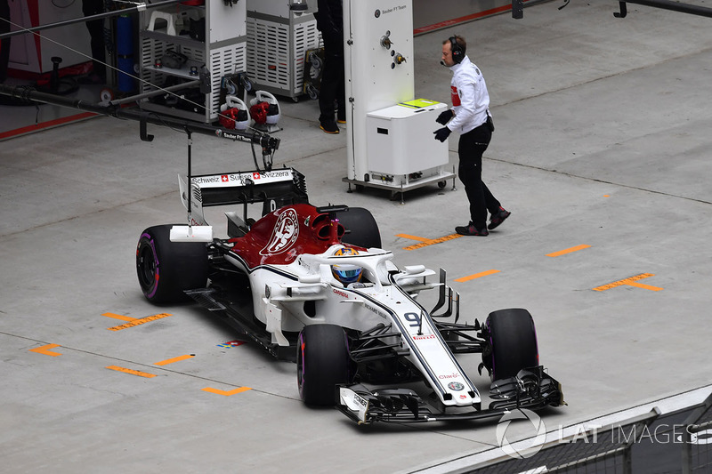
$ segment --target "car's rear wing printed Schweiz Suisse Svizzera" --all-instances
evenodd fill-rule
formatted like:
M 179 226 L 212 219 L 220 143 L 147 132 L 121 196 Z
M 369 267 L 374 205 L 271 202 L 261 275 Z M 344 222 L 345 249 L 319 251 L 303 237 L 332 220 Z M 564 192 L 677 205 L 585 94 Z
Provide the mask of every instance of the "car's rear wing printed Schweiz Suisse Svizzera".
M 199 174 L 190 177 L 190 206 L 188 177 L 178 175 L 181 200 L 190 211 L 189 225 L 207 225 L 203 209 L 216 205 L 247 205 L 263 203 L 263 213 L 270 213 L 283 205 L 307 203 L 304 175 L 294 168 L 271 171 Z

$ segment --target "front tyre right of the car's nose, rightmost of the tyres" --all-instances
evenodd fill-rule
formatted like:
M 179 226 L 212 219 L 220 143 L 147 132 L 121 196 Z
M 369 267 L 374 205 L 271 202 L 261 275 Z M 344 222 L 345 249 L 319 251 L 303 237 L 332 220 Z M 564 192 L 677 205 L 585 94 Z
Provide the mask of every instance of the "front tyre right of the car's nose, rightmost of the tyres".
M 526 309 L 499 309 L 487 317 L 490 350 L 482 363 L 492 371 L 492 381 L 514 377 L 524 368 L 539 365 L 534 320 Z

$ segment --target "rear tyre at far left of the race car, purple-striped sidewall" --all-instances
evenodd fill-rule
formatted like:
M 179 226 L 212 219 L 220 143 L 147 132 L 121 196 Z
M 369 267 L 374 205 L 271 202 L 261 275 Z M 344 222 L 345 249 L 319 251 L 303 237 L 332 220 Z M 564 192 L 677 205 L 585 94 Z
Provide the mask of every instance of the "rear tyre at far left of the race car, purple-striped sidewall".
M 136 272 L 146 298 L 154 303 L 187 301 L 183 293 L 207 283 L 207 246 L 202 242 L 171 242 L 170 224 L 142 232 L 136 247 Z

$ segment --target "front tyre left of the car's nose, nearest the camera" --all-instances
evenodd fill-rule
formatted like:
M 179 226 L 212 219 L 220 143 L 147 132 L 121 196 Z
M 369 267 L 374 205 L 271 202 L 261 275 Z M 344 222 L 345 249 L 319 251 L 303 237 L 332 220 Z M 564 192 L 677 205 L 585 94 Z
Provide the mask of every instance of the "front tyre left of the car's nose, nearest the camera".
M 336 384 L 351 382 L 351 358 L 344 328 L 304 326 L 296 351 L 296 382 L 303 402 L 335 405 Z

